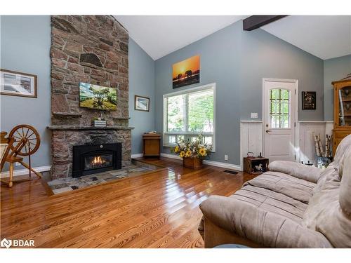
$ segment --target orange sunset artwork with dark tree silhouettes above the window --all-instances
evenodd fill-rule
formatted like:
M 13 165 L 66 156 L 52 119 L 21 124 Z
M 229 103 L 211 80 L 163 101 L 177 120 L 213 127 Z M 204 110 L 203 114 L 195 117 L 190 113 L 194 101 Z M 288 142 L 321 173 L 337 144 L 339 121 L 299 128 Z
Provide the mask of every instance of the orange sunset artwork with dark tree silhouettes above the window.
M 173 88 L 180 88 L 200 82 L 200 56 L 187 58 L 173 64 Z

